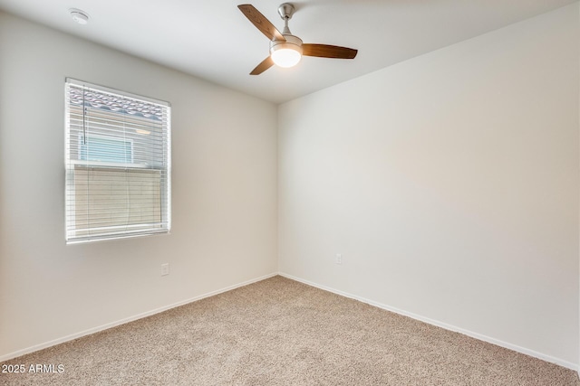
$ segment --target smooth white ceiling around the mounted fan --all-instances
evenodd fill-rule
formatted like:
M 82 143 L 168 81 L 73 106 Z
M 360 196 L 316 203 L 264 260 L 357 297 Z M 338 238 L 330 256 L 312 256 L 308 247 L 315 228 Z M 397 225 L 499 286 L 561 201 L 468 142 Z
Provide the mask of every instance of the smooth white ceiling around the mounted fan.
M 0 0 L 0 9 L 275 103 L 295 99 L 577 0 L 297 0 L 290 29 L 304 42 L 356 48 L 354 60 L 304 57 L 249 72 L 268 40 L 243 0 Z M 278 30 L 284 0 L 251 0 Z M 69 8 L 90 15 L 73 22 Z

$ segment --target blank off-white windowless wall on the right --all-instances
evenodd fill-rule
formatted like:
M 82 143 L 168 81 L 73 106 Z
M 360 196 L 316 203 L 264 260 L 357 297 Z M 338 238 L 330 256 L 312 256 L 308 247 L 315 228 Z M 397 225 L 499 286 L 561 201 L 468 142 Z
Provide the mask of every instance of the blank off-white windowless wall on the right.
M 281 105 L 280 271 L 575 368 L 578 28 L 575 3 Z

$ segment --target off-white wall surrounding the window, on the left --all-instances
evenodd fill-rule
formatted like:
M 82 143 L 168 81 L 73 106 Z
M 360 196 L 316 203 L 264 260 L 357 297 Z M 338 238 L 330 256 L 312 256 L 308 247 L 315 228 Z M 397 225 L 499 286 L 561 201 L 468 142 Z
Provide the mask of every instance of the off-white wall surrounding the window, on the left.
M 65 77 L 172 104 L 171 234 L 64 244 Z M 0 13 L 0 361 L 275 273 L 276 173 L 275 105 Z

